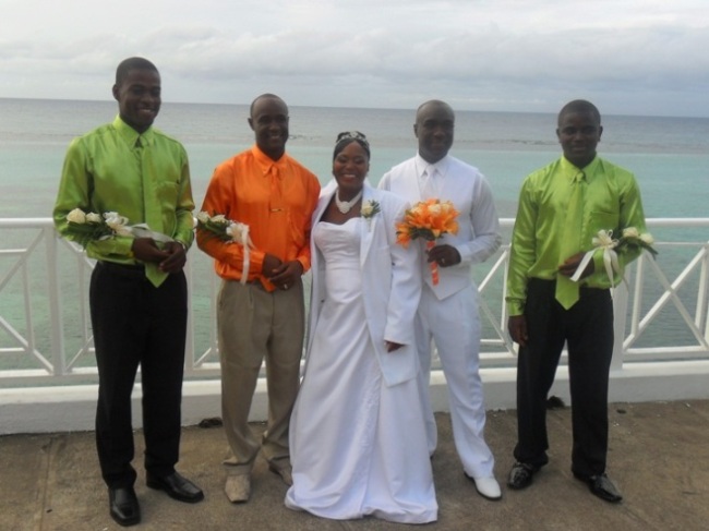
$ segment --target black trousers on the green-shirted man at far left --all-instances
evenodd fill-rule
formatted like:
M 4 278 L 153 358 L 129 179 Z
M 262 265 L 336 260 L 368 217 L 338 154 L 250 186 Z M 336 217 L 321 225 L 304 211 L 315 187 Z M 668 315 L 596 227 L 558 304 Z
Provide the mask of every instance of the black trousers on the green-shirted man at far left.
M 139 365 L 145 469 L 169 474 L 180 446 L 184 274 L 170 275 L 155 288 L 142 267 L 99 262 L 92 274 L 89 304 L 99 381 L 96 446 L 104 481 L 110 487 L 135 482 L 131 393 Z

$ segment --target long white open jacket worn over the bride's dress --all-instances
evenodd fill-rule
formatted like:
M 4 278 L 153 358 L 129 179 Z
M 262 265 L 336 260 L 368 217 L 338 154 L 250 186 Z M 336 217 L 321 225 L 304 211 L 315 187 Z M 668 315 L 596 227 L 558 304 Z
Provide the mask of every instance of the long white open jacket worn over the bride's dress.
M 320 221 L 336 188 L 327 186 L 321 194 L 313 214 L 313 227 Z M 387 386 L 412 379 L 418 374 L 419 362 L 414 343 L 413 319 L 421 298 L 421 269 L 419 246 L 404 249 L 396 243 L 396 222 L 404 218 L 408 204 L 402 198 L 364 185 L 362 204 L 376 201 L 381 212 L 360 225 L 360 267 L 362 270 L 362 298 L 374 355 L 382 369 Z M 313 345 L 317 319 L 327 297 L 325 260 L 311 237 L 312 290 L 308 334 L 308 358 Z M 404 345 L 393 352 L 386 351 L 384 341 Z

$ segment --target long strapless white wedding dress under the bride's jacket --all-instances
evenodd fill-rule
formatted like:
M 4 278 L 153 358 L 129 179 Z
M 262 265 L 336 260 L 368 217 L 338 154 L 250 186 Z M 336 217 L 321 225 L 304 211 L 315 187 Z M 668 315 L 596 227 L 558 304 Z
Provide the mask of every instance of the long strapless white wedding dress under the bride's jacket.
M 385 385 L 366 326 L 361 222 L 320 222 L 313 229 L 326 263 L 327 299 L 311 330 L 312 349 L 290 421 L 293 485 L 286 506 L 340 520 L 371 515 L 405 523 L 435 521 L 416 378 Z

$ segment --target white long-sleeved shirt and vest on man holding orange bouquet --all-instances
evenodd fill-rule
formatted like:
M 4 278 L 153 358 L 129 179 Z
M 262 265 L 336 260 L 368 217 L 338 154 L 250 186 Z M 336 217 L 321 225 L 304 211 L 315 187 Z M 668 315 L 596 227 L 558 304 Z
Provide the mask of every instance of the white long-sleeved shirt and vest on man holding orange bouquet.
M 392 168 L 380 181 L 378 188 L 404 197 L 411 205 L 431 197 L 450 201 L 458 210 L 458 233 L 445 234 L 436 244 L 447 243 L 460 253 L 460 263 L 440 267 L 440 281 L 433 286 L 430 264 L 421 252 L 423 281 L 438 300 L 470 286 L 472 264 L 488 260 L 502 243 L 500 219 L 488 181 L 477 168 L 455 157 L 446 156 L 434 166 L 437 170 L 435 190 L 426 189 L 422 173 L 429 162 L 420 155 Z M 420 242 L 423 249 L 424 242 Z

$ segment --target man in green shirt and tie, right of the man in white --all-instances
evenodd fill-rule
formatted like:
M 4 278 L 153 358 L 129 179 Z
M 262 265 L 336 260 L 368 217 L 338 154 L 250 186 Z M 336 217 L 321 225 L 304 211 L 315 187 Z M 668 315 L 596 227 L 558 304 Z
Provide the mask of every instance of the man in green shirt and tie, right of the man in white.
M 525 488 L 549 461 L 546 397 L 564 343 L 568 347 L 574 445 L 572 471 L 606 502 L 622 499 L 605 475 L 608 386 L 613 353 L 610 288 L 639 251 L 618 251 L 609 278 L 596 249 L 578 281 L 572 277 L 593 250 L 600 230 L 645 231 L 640 192 L 633 173 L 597 156 L 601 117 L 585 100 L 567 104 L 556 135 L 563 156 L 527 177 L 512 238 L 507 305 L 509 335 L 519 343 L 517 462 L 507 485 Z

